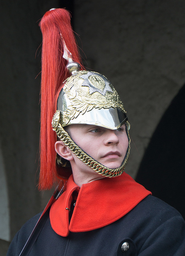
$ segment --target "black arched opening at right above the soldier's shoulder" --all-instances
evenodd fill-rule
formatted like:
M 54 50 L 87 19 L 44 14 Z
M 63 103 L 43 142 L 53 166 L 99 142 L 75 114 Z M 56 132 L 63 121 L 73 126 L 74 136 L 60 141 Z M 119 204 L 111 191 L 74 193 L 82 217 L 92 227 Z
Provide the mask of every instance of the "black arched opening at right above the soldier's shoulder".
M 136 181 L 185 218 L 185 85 L 161 118 Z

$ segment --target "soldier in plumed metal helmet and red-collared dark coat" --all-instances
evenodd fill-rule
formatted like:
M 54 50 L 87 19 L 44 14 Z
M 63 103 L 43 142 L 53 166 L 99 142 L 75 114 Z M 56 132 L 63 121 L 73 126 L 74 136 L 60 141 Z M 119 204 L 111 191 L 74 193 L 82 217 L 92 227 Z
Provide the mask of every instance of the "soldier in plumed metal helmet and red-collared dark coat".
M 52 9 L 40 26 L 39 188 L 60 179 L 64 189 L 22 227 L 7 255 L 183 256 L 179 212 L 124 172 L 130 152 L 124 105 L 105 76 L 84 70 L 69 13 Z

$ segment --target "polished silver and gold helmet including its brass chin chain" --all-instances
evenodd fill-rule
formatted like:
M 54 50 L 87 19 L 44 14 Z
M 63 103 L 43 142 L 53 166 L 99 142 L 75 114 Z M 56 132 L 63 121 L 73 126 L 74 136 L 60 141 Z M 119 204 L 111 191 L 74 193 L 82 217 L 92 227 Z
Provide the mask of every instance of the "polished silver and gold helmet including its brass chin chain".
M 130 152 L 130 128 L 126 111 L 120 97 L 110 81 L 103 75 L 81 70 L 76 62 L 69 62 L 67 68 L 71 76 L 65 80 L 57 99 L 57 111 L 53 116 L 52 126 L 57 136 L 64 144 L 87 166 L 95 172 L 109 178 L 124 172 Z M 128 149 L 122 165 L 110 169 L 85 153 L 69 136 L 65 126 L 70 124 L 94 124 L 111 130 L 116 130 L 126 124 Z M 57 156 L 61 166 L 69 166 L 68 161 Z

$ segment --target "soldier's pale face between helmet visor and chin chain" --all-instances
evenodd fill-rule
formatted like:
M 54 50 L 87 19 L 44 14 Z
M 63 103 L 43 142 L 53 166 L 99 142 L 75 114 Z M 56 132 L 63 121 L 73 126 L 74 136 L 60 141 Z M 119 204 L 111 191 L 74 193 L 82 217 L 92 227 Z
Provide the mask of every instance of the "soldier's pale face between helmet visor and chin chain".
M 128 148 L 125 124 L 117 130 L 90 124 L 71 124 L 69 133 L 74 142 L 100 164 L 111 169 L 121 166 Z M 76 161 L 80 165 L 77 168 L 82 168 L 84 163 L 79 161 Z

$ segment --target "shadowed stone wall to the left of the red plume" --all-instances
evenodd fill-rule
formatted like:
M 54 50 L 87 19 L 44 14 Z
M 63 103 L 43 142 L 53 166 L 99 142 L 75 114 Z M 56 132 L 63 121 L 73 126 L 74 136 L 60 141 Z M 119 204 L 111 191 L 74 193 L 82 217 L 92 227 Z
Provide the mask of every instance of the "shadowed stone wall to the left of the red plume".
M 0 173 L 4 175 L 0 177 L 0 204 L 4 210 L 0 212 L 0 238 L 6 241 L 41 211 L 42 195 L 36 188 L 41 78 L 38 21 L 50 8 L 48 2 L 1 4 Z

